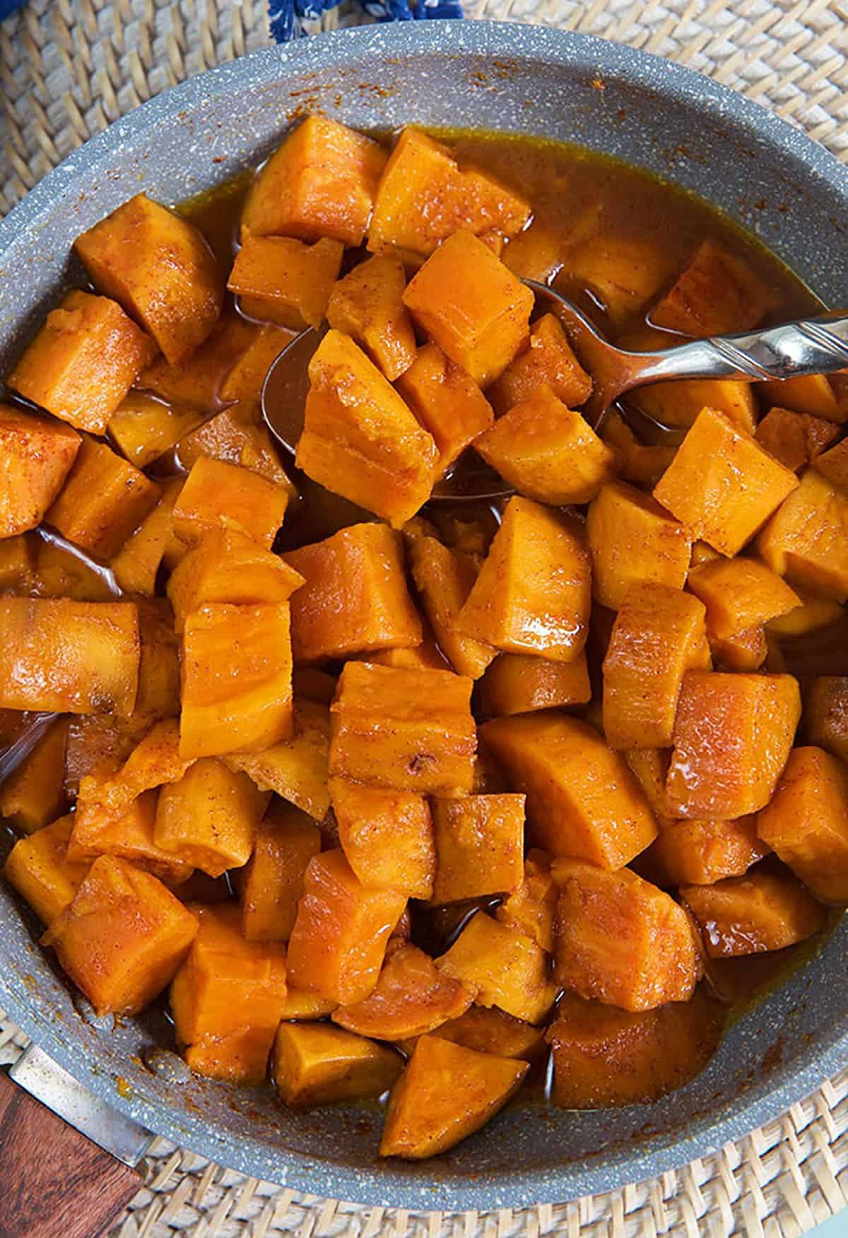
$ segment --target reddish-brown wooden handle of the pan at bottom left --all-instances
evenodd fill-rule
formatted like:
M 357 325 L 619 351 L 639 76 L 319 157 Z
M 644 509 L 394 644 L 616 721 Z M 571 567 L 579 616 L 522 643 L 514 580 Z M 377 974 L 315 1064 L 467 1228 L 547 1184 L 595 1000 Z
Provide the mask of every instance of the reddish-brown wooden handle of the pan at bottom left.
M 98 1238 L 141 1186 L 0 1071 L 0 1238 Z

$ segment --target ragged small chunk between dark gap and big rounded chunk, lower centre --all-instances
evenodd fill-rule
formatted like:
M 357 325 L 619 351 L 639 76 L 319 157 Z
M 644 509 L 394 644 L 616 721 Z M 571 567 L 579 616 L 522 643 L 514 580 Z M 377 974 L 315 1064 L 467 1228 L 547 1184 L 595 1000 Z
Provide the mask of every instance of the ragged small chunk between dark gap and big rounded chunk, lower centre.
M 556 997 L 545 951 L 521 930 L 483 911 L 472 916 L 436 966 L 477 989 L 479 1005 L 496 1005 L 526 1023 L 543 1023 Z

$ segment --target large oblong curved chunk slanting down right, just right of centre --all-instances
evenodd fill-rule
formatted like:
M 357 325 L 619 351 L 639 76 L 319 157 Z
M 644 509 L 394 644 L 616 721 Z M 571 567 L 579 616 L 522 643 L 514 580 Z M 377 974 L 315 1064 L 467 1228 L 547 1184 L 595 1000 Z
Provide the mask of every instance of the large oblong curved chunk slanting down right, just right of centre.
M 529 834 L 552 855 L 615 869 L 656 838 L 639 782 L 588 723 L 550 711 L 496 718 L 480 737 L 526 794 Z

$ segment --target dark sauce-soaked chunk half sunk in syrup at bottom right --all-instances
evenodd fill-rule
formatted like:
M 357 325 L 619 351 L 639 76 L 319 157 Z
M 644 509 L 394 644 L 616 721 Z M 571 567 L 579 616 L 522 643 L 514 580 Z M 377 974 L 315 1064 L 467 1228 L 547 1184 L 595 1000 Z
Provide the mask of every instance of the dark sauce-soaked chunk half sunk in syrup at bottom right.
M 703 1070 L 723 1023 L 722 1005 L 703 989 L 634 1014 L 567 993 L 547 1032 L 553 1099 L 566 1109 L 659 1101 Z

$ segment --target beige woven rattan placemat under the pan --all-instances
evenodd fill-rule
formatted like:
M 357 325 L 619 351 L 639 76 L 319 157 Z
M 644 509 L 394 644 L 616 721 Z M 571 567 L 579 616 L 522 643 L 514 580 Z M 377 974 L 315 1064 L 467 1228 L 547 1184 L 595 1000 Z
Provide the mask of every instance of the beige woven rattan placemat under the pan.
M 848 162 L 848 0 L 478 0 L 470 16 L 587 31 L 735 87 Z M 334 11 L 324 26 L 361 10 Z M 0 24 L 0 213 L 158 90 L 269 42 L 262 0 L 30 0 Z M 0 1062 L 26 1044 L 0 1013 Z M 720 1153 L 609 1195 L 493 1213 L 319 1200 L 158 1139 L 113 1238 L 796 1238 L 848 1207 L 848 1071 Z M 2 1172 L 2 1166 L 0 1166 Z M 848 1223 L 847 1223 L 848 1232 Z

